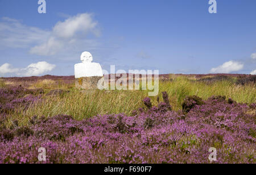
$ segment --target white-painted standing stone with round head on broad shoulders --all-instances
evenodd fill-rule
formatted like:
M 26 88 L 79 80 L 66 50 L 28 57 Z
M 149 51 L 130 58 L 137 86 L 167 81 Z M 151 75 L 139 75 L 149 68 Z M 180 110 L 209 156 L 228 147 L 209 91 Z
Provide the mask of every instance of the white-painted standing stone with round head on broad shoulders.
M 90 52 L 82 52 L 80 59 L 82 62 L 75 64 L 75 78 L 103 76 L 101 65 L 97 62 L 92 62 L 93 57 Z

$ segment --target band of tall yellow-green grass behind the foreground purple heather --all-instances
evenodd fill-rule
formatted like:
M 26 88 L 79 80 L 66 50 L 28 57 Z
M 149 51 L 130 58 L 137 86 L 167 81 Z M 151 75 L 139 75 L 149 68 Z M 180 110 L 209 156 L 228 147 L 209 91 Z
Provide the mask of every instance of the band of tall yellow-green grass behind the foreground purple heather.
M 45 85 L 44 85 L 45 86 Z M 74 85 L 75 86 L 75 85 Z M 39 85 L 37 84 L 37 87 Z M 61 87 L 60 87 L 61 88 Z M 67 87 L 63 86 L 61 89 Z M 70 89 L 69 89 L 70 90 Z M 159 82 L 159 97 L 167 91 L 174 110 L 181 109 L 181 103 L 187 95 L 197 95 L 207 99 L 212 95 L 225 95 L 241 103 L 256 102 L 255 85 L 236 85 L 233 81 L 218 81 L 213 84 L 191 81 L 187 77 L 175 77 L 174 81 Z M 32 116 L 54 116 L 58 114 L 72 115 L 76 119 L 89 118 L 97 114 L 130 115 L 133 110 L 143 106 L 142 100 L 147 97 L 147 90 L 95 90 L 81 91 L 71 88 L 62 96 L 43 97 L 41 102 L 30 106 L 28 110 L 19 110 L 10 115 L 10 120 L 18 119 L 26 124 Z M 156 97 L 150 97 L 153 105 L 157 105 Z

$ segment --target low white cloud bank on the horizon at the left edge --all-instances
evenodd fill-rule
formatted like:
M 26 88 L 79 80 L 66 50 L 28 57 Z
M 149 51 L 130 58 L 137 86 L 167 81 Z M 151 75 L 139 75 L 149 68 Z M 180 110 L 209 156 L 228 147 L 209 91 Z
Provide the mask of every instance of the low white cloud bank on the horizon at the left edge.
M 0 66 L 0 74 L 14 73 L 17 76 L 39 76 L 43 73 L 50 72 L 56 67 L 56 65 L 49 64 L 46 61 L 38 63 L 32 63 L 26 68 L 12 68 L 8 63 Z

